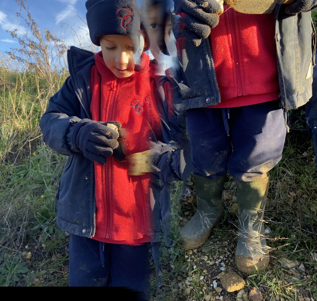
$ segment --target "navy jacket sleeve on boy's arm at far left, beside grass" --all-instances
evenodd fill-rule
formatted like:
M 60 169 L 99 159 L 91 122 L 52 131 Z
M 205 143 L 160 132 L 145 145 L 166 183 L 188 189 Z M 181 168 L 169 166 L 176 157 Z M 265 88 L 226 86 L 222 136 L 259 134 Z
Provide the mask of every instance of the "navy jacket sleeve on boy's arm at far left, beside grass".
M 49 99 L 49 106 L 40 120 L 43 142 L 60 154 L 74 154 L 69 137 L 74 123 L 81 120 L 80 115 L 80 103 L 68 77 L 61 89 Z

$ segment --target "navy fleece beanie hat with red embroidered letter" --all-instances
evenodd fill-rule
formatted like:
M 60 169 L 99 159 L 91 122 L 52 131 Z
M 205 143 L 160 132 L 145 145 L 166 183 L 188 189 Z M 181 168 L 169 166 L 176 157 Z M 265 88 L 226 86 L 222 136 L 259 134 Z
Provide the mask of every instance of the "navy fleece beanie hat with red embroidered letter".
M 87 0 L 86 9 L 93 44 L 100 46 L 100 38 L 104 35 L 129 35 L 136 50 L 139 46 L 137 32 L 142 29 L 147 42 L 144 51 L 149 49 L 150 39 L 136 0 Z

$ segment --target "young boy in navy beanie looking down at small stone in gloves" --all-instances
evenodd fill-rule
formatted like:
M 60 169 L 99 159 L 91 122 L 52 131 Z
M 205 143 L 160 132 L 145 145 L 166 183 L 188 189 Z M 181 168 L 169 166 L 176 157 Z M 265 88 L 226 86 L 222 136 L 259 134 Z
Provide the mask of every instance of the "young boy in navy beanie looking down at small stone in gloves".
M 88 0 L 86 8 L 101 51 L 68 50 L 70 77 L 40 121 L 43 141 L 69 156 L 55 199 L 57 224 L 71 233 L 69 285 L 123 286 L 148 298 L 149 247 L 160 231 L 151 196 L 160 194 L 150 173 L 130 175 L 125 156 L 164 138 L 162 103 L 142 52 L 149 39 L 134 0 Z M 177 151 L 161 145 L 152 165 L 160 177 L 166 170 L 177 177 Z

